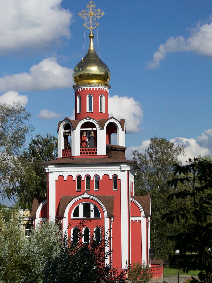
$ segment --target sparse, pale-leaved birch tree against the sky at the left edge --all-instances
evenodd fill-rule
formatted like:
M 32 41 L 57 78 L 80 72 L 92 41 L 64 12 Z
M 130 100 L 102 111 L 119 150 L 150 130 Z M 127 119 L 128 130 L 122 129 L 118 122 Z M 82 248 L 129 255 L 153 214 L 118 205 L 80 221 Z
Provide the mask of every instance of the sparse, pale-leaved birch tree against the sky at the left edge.
M 0 104 L 0 193 L 5 196 L 5 188 L 10 185 L 10 173 L 18 169 L 17 160 L 27 135 L 33 131 L 28 123 L 31 113 L 20 104 Z M 9 196 L 10 198 L 10 196 Z

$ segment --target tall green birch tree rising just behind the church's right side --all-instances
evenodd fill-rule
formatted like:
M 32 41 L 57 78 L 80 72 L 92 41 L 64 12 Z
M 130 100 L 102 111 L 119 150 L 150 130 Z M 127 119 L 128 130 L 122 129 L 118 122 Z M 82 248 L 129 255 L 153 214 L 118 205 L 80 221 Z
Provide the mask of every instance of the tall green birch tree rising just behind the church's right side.
M 167 185 L 174 174 L 172 166 L 180 164 L 179 155 L 184 155 L 183 145 L 175 147 L 174 143 L 166 138 L 150 139 L 150 143 L 145 153 L 133 151 L 133 160 L 141 168 L 140 174 L 135 177 L 135 194 L 146 195 L 151 193 L 153 220 L 151 229 L 151 246 L 155 248 L 155 255 L 158 259 L 168 259 L 173 253 L 173 244 L 166 235 L 175 233 L 179 229 L 178 225 L 171 226 L 162 220 L 164 213 L 174 209 L 178 201 L 167 201 L 167 196 L 174 192 L 174 188 Z

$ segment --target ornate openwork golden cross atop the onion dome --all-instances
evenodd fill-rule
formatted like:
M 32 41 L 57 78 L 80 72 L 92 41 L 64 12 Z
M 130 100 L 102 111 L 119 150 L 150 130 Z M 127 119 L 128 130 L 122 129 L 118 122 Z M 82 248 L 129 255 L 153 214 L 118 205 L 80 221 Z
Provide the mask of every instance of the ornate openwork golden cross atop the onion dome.
M 78 16 L 85 20 L 83 27 L 90 29 L 90 33 L 92 33 L 92 29 L 95 29 L 95 27 L 99 25 L 97 19 L 101 18 L 101 16 L 103 16 L 105 13 L 102 12 L 100 9 L 96 10 L 96 5 L 93 1 L 90 1 L 86 7 L 87 9 L 83 9 L 81 12 L 79 12 Z M 90 27 L 88 27 L 87 25 L 90 25 Z

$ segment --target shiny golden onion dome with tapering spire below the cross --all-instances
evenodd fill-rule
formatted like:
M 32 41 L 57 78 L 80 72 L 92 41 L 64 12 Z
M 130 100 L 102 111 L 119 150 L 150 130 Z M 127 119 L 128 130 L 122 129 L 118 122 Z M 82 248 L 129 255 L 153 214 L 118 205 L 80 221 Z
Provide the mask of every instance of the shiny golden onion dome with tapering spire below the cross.
M 108 84 L 111 73 L 107 65 L 98 57 L 94 49 L 94 34 L 89 34 L 90 44 L 88 52 L 73 69 L 75 84 L 80 83 L 105 83 Z

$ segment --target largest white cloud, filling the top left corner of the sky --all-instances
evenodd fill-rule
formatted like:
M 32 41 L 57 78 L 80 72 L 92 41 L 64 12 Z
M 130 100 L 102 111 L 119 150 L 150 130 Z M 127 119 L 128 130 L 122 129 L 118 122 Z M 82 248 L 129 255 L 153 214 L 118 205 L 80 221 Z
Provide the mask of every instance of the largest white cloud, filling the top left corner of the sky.
M 61 0 L 1 0 L 0 54 L 70 37 L 72 14 Z

